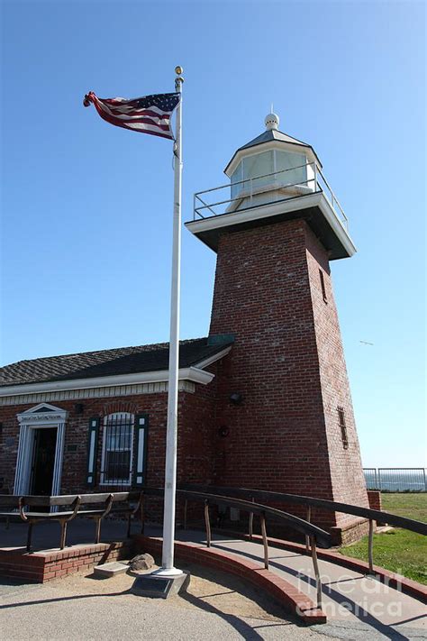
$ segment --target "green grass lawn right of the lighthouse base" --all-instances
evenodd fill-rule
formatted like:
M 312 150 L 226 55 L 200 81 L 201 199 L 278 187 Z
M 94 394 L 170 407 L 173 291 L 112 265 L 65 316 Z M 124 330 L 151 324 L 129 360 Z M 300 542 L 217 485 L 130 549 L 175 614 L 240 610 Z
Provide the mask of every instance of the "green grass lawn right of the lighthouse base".
M 385 512 L 427 522 L 427 494 L 382 494 Z M 341 554 L 368 561 L 368 536 L 341 547 Z M 401 528 L 374 535 L 374 563 L 427 585 L 427 536 Z

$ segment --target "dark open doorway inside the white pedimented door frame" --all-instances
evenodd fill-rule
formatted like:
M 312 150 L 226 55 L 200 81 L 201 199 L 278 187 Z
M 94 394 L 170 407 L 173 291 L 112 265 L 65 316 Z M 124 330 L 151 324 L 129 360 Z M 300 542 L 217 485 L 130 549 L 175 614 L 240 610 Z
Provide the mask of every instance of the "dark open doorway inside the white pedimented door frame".
M 58 428 L 39 427 L 33 432 L 30 493 L 49 496 L 52 493 Z

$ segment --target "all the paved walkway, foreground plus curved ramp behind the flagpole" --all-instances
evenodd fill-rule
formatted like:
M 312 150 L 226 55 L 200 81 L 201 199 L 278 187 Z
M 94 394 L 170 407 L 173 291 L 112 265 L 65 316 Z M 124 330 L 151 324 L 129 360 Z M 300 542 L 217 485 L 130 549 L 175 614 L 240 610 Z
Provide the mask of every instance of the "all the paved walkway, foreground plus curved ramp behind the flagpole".
M 70 524 L 71 525 L 71 524 Z M 2 530 L 4 525 L 2 524 Z M 2 531 L 7 543 L 21 543 L 23 527 Z M 93 536 L 93 524 L 79 523 L 70 528 L 69 543 L 80 542 L 83 536 Z M 135 528 L 137 529 L 137 528 Z M 55 528 L 35 528 L 38 543 L 52 545 L 57 540 Z M 74 531 L 75 530 L 75 531 Z M 105 522 L 103 540 L 121 540 L 124 524 Z M 147 528 L 147 535 L 161 536 L 158 528 Z M 5 536 L 7 535 L 7 536 Z M 18 540 L 19 542 L 18 542 Z M 177 539 L 205 545 L 204 534 L 196 531 L 177 532 Z M 263 565 L 263 548 L 226 536 L 213 536 L 213 546 Z M 315 600 L 315 581 L 311 558 L 269 546 L 270 571 L 293 583 L 298 590 Z M 178 563 L 177 563 L 178 564 Z M 72 641 L 115 641 L 116 639 L 189 639 L 210 641 L 227 639 L 427 639 L 425 606 L 418 600 L 399 593 L 372 578 L 364 577 L 330 562 L 319 560 L 323 578 L 323 610 L 328 623 L 302 627 L 295 618 L 283 612 L 277 620 L 235 615 L 215 609 L 206 599 L 195 599 L 191 594 L 175 601 L 148 600 L 129 592 L 129 585 L 114 589 L 109 581 L 84 578 L 78 583 L 71 576 L 45 585 L 17 585 L 12 581 L 0 582 L 0 639 L 35 641 L 71 639 Z M 128 577 L 129 579 L 129 577 Z M 71 590 L 67 581 L 77 581 Z M 93 587 L 87 588 L 89 583 Z M 111 586 L 111 587 L 110 587 Z M 236 589 L 239 591 L 239 589 Z M 216 590 L 226 594 L 224 590 Z M 186 607 L 183 607 L 186 601 Z M 209 599 L 208 599 L 209 601 Z M 191 607 L 189 607 L 191 606 Z

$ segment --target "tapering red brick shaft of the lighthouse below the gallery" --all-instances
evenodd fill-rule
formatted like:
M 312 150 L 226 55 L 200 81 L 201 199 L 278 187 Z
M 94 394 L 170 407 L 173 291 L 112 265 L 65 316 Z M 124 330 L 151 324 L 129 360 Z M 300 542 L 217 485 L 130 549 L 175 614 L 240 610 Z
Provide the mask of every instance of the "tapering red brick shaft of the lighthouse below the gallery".
M 216 482 L 368 506 L 327 255 L 304 221 L 222 234 L 210 332 L 236 337 L 219 372 L 217 424 L 230 435 L 218 446 Z M 329 526 L 351 518 L 313 514 Z

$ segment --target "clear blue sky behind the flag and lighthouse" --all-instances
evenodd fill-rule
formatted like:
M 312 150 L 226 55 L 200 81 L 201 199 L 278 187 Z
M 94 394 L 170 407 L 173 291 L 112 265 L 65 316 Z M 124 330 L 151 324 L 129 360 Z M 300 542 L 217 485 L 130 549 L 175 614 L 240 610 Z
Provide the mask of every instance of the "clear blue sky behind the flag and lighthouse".
M 2 364 L 168 340 L 171 143 L 82 98 L 173 91 L 180 64 L 184 219 L 274 102 L 359 249 L 332 273 L 363 462 L 425 464 L 424 3 L 1 7 Z M 183 338 L 207 334 L 214 265 L 184 231 Z

